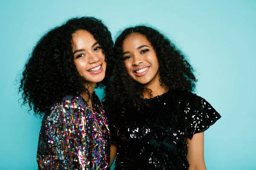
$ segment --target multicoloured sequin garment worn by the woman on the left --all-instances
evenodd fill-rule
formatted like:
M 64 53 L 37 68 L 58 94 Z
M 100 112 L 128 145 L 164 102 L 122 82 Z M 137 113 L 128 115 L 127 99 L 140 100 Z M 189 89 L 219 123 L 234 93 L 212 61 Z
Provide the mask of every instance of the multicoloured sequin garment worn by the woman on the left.
M 42 120 L 39 170 L 109 170 L 110 134 L 99 98 L 93 111 L 81 96 L 66 96 Z

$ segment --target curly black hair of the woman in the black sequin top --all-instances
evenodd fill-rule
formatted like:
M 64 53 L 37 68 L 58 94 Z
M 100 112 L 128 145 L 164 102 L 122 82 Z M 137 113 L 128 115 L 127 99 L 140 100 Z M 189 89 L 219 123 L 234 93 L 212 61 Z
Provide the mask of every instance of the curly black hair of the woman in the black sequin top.
M 113 72 L 105 88 L 105 110 L 111 117 L 125 113 L 126 107 L 140 110 L 145 105 L 142 84 L 132 79 L 124 66 L 122 45 L 130 34 L 142 34 L 153 46 L 159 62 L 160 82 L 169 90 L 194 91 L 197 79 L 194 70 L 185 55 L 157 29 L 148 26 L 126 28 L 117 37 L 114 45 L 114 57 L 110 58 Z M 150 91 L 150 89 L 148 89 Z

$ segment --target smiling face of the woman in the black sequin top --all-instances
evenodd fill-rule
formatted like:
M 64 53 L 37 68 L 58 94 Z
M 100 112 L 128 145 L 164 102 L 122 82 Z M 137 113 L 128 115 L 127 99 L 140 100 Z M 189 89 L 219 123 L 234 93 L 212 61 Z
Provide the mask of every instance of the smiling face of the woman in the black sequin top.
M 128 74 L 147 87 L 159 84 L 157 54 L 148 39 L 139 33 L 128 35 L 123 42 L 123 59 Z

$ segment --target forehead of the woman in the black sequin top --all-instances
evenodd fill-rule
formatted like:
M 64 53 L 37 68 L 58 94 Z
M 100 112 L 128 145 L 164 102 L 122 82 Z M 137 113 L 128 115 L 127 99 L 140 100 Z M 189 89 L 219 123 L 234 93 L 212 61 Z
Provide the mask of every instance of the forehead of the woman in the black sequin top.
M 123 42 L 123 48 L 137 47 L 140 45 L 151 45 L 145 35 L 140 33 L 133 33 L 128 35 Z

